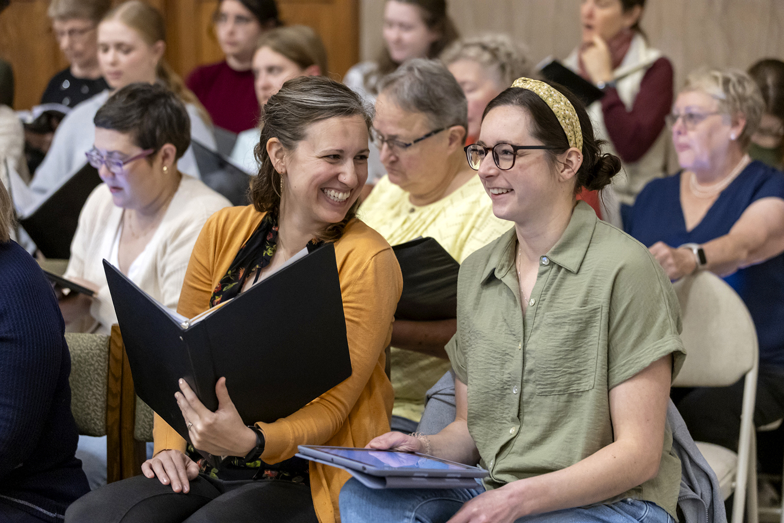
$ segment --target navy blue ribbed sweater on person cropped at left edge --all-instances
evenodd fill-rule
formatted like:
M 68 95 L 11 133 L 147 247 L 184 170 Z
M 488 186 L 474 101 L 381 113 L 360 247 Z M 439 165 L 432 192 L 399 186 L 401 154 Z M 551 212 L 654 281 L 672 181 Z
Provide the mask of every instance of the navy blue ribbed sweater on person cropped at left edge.
M 38 264 L 15 242 L 0 243 L 0 520 L 10 506 L 62 521 L 68 505 L 89 492 L 74 458 L 78 430 L 63 333 Z

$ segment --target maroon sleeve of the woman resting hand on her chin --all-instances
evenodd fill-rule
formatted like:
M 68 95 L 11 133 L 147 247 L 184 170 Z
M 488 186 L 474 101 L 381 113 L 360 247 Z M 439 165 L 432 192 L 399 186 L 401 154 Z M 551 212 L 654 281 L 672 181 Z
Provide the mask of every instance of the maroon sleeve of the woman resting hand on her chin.
M 672 106 L 673 65 L 663 56 L 645 71 L 631 111 L 626 111 L 618 91 L 607 89 L 601 99 L 604 125 L 624 162 L 637 162 L 648 152 Z

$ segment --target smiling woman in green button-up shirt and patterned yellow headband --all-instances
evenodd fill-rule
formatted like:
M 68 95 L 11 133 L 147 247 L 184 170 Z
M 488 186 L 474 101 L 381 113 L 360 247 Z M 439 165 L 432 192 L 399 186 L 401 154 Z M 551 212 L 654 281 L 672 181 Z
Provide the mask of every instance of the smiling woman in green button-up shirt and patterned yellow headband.
M 390 432 L 368 445 L 478 463 L 488 478 L 386 491 L 352 480 L 344 523 L 675 516 L 681 463 L 666 407 L 684 356 L 677 298 L 643 245 L 575 202 L 620 166 L 601 154 L 583 105 L 543 82 L 514 85 L 466 147 L 495 216 L 515 227 L 460 269 L 446 347 L 456 419 L 433 436 Z

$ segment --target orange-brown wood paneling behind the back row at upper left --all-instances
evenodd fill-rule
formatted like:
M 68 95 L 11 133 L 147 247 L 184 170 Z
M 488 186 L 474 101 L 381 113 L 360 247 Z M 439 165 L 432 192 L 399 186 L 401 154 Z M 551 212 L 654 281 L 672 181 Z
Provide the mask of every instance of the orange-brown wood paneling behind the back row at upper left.
M 223 58 L 212 31 L 217 0 L 146 1 L 165 16 L 165 57 L 175 71 L 185 76 L 198 65 Z M 0 14 L 0 57 L 11 63 L 16 76 L 16 109 L 38 104 L 49 78 L 67 67 L 46 16 L 48 5 L 48 0 L 11 0 Z M 278 0 L 278 5 L 286 24 L 305 24 L 318 32 L 333 76 L 342 77 L 357 63 L 358 0 Z

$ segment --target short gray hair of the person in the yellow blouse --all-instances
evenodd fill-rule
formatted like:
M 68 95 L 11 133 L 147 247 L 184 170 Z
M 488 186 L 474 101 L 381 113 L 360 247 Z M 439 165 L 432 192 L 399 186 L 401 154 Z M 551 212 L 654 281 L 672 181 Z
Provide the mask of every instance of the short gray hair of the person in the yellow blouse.
M 468 132 L 468 102 L 452 73 L 438 60 L 415 58 L 379 82 L 405 111 L 424 113 L 436 128 L 462 125 Z

